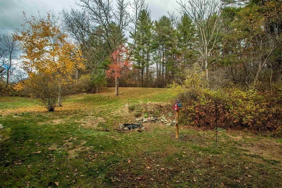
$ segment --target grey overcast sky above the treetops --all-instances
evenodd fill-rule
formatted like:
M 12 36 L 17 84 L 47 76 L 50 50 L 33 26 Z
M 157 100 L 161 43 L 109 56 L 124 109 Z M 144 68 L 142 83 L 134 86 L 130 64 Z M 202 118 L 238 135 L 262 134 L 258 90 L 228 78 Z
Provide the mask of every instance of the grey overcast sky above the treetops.
M 79 0 L 0 0 L 0 34 L 13 33 L 23 23 L 23 11 L 27 15 L 38 15 L 54 10 L 59 13 L 63 8 L 75 6 Z M 146 0 L 151 9 L 152 19 L 168 15 L 167 11 L 175 11 L 176 0 Z

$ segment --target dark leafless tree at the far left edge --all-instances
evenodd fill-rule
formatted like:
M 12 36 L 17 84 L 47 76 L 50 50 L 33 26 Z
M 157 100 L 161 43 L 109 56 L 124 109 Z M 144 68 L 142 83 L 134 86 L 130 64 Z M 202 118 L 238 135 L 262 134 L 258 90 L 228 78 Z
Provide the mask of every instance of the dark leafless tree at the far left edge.
M 16 59 L 16 55 L 17 55 L 17 51 L 18 51 L 18 45 L 17 45 L 17 41 L 15 41 L 13 39 L 12 35 L 7 35 L 7 34 L 3 34 L 3 36 L 1 37 L 1 62 L 4 65 L 4 67 L 6 68 L 5 71 L 5 75 L 6 77 L 6 87 L 8 87 L 9 85 L 9 81 L 10 81 L 10 75 L 13 73 L 14 70 L 14 65 L 15 63 L 15 59 Z

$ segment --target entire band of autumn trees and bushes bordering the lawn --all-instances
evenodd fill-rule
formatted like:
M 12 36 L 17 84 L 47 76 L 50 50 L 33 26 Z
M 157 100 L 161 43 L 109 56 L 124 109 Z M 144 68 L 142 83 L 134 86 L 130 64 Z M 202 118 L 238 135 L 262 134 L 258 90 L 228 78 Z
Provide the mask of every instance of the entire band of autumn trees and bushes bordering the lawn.
M 196 126 L 213 127 L 219 112 L 223 127 L 281 134 L 281 1 L 176 3 L 181 16 L 159 20 L 144 0 L 80 0 L 60 15 L 24 16 L 1 36 L 2 91 L 53 111 L 61 96 L 100 86 L 115 95 L 118 86 L 170 87 Z

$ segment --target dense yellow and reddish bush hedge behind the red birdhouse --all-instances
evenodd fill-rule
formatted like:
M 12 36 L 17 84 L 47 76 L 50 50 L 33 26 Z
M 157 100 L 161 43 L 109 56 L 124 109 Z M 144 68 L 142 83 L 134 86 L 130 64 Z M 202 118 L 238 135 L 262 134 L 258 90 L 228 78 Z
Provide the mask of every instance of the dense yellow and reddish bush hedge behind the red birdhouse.
M 248 128 L 271 135 L 282 134 L 282 86 L 260 91 L 259 86 L 203 88 L 200 76 L 189 74 L 182 84 L 171 85 L 175 96 L 183 102 L 181 123 L 201 128 Z

